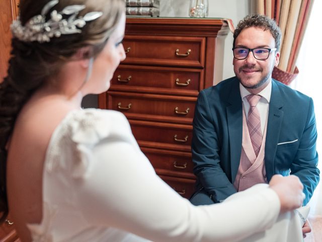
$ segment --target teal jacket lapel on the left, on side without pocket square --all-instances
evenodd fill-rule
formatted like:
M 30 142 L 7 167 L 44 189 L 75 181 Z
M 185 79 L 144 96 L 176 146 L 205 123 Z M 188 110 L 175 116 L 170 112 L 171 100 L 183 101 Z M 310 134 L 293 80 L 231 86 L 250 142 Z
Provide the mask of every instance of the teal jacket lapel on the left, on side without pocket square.
M 239 81 L 235 79 L 227 95 L 227 125 L 230 146 L 230 166 L 232 183 L 239 167 L 241 142 L 243 139 L 243 107 L 239 91 Z

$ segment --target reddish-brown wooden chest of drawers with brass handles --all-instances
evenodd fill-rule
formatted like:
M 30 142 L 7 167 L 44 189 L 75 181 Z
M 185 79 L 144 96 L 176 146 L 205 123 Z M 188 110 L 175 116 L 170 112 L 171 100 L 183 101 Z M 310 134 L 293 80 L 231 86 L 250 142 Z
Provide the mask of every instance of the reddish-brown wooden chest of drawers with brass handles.
M 100 108 L 126 115 L 156 173 L 186 198 L 195 182 L 190 147 L 195 102 L 200 90 L 215 78 L 221 81 L 227 32 L 222 19 L 127 18 L 126 59 L 109 91 L 99 96 Z

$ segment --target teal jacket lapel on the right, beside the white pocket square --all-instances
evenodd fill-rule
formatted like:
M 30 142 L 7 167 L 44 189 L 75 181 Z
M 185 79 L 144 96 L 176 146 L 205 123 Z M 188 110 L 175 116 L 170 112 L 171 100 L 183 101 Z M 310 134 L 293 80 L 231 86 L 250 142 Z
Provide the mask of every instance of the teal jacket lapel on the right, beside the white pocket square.
M 265 168 L 267 180 L 270 180 L 274 174 L 274 158 L 284 115 L 282 108 L 283 101 L 281 99 L 280 90 L 275 81 L 272 80 L 272 94 L 269 104 L 265 144 Z

